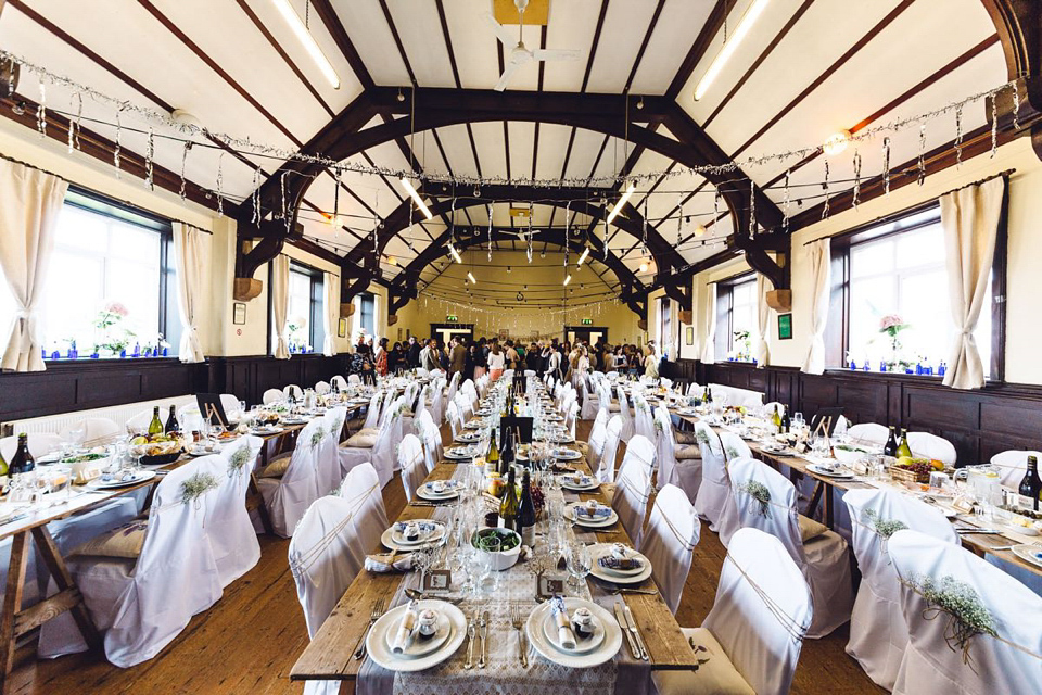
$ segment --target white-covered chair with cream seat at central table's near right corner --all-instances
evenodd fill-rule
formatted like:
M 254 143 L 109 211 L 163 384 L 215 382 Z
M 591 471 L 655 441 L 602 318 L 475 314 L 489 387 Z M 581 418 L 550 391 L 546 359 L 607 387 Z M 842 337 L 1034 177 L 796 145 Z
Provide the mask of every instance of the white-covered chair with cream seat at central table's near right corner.
M 658 695 L 787 695 L 814 604 L 785 546 L 757 529 L 735 533 L 700 628 L 684 629 L 697 671 L 657 671 Z

